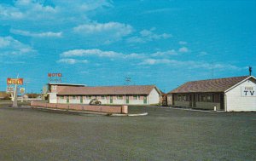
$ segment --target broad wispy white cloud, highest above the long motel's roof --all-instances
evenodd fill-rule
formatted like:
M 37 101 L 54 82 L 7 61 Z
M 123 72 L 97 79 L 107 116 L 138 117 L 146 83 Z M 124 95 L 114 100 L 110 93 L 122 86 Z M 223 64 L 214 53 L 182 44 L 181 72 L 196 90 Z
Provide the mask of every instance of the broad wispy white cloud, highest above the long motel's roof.
M 122 24 L 119 22 L 108 22 L 108 23 L 91 23 L 76 26 L 73 28 L 74 32 L 82 34 L 102 34 L 106 32 L 112 33 L 115 37 L 125 37 L 132 32 L 130 25 Z

